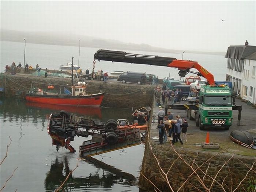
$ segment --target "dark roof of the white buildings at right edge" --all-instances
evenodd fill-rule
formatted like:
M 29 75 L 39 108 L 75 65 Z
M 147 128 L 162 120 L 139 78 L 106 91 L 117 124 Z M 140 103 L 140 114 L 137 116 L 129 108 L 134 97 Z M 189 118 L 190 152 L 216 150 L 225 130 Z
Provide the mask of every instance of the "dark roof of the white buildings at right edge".
M 256 60 L 256 46 L 231 45 L 227 48 L 225 58 Z

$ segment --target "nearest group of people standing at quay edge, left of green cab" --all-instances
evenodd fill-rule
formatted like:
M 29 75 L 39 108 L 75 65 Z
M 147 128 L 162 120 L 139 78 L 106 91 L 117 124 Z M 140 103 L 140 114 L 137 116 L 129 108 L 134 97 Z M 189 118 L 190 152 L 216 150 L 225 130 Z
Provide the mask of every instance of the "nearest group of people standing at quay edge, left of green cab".
M 172 144 L 179 141 L 183 145 L 184 142 L 187 142 L 187 119 L 182 120 L 179 115 L 173 119 L 173 114 L 168 112 L 166 115 L 162 108 L 159 109 L 157 116 L 160 145 L 167 141 L 167 137 L 172 138 Z

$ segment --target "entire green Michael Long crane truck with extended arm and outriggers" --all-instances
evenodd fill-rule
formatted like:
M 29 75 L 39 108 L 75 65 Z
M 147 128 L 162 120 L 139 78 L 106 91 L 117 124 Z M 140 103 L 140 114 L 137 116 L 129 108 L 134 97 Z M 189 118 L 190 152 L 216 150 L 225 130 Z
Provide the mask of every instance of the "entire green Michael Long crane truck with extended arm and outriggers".
M 232 110 L 238 110 L 237 124 L 240 124 L 242 107 L 235 105 L 231 87 L 226 83 L 215 82 L 214 76 L 196 61 L 102 49 L 94 54 L 94 59 L 174 67 L 180 70 L 178 74 L 181 77 L 185 77 L 189 72 L 203 76 L 207 79 L 207 85 L 201 86 L 200 91 L 196 94 L 198 97 L 188 98 L 189 102 L 185 105 L 166 104 L 166 112 L 167 109 L 183 109 L 186 110 L 190 120 L 195 119 L 196 126 L 199 126 L 201 130 L 205 127 L 224 127 L 227 130 L 232 124 Z M 199 72 L 190 71 L 191 68 L 195 68 Z

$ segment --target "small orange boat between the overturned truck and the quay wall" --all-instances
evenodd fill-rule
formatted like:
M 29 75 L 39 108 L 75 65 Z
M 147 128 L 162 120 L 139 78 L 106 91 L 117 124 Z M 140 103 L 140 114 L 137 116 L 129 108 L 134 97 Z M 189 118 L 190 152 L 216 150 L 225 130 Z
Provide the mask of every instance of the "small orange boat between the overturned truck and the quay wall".
M 150 110 L 150 107 L 135 110 L 135 112 L 132 113 L 133 123 L 129 123 L 127 119 L 118 119 L 116 121 L 117 128 L 120 130 L 139 128 L 141 133 L 147 131 Z

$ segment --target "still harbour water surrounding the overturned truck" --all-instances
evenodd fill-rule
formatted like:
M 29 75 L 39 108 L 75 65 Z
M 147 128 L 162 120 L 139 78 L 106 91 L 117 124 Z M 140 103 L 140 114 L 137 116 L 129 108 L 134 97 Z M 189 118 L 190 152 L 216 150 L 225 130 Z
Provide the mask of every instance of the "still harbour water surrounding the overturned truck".
M 56 106 L 42 108 L 20 100 L 0 100 L 0 159 L 5 156 L 9 136 L 12 139 L 7 158 L 0 166 L 0 187 L 18 167 L 3 191 L 54 191 L 77 163 L 79 166 L 65 185 L 65 191 L 139 191 L 136 182 L 144 145 L 96 155 L 95 159 L 87 160 L 78 159 L 78 152 L 72 154 L 65 148 L 57 152 L 47 133 L 47 123 L 50 113 L 61 109 Z M 65 110 L 73 112 L 74 109 Z M 109 118 L 131 120 L 132 117 L 132 109 L 87 108 L 85 112 L 78 111 L 81 115 L 102 121 Z M 89 138 L 76 137 L 71 145 L 78 151 L 86 139 Z

